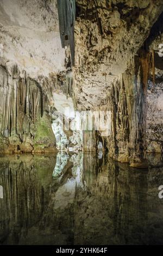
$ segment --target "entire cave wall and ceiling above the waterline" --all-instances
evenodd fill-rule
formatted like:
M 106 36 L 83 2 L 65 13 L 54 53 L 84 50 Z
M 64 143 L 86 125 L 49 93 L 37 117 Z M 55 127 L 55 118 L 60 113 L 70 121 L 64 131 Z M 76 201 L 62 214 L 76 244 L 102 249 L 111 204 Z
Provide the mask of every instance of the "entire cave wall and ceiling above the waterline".
M 161 0 L 8 0 L 1 7 L 1 152 L 108 150 L 132 167 L 146 167 L 146 153 L 162 153 Z M 62 130 L 55 111 L 67 106 L 110 111 L 110 134 L 73 130 L 72 115 L 65 115 L 70 130 Z

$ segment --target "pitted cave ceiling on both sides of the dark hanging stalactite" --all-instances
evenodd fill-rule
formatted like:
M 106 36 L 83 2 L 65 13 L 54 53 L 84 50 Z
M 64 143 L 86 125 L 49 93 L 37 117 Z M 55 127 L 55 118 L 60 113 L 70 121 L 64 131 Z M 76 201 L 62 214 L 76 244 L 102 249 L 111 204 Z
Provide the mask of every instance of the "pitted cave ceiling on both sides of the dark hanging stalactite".
M 16 62 L 32 78 L 66 71 L 57 0 L 1 0 L 0 7 L 2 65 Z M 73 83 L 79 110 L 105 105 L 112 82 L 131 68 L 162 11 L 162 0 L 76 1 Z M 150 42 L 155 51 L 158 31 Z

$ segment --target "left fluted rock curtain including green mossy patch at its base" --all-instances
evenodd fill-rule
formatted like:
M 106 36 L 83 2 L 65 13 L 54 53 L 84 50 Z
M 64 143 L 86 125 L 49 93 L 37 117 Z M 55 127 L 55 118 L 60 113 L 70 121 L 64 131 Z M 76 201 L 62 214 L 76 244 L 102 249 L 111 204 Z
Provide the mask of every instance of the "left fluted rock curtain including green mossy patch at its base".
M 49 95 L 54 84 L 20 75 L 17 65 L 0 66 L 2 153 L 54 151 L 55 137 L 49 115 Z

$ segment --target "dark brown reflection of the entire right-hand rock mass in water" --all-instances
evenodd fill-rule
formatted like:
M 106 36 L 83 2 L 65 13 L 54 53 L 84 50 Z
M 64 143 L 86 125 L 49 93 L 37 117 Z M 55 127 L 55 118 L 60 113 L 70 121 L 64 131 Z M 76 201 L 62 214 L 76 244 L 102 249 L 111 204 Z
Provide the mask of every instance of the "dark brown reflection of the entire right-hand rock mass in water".
M 95 157 L 93 163 L 84 172 L 87 191 L 76 196 L 75 244 L 162 243 L 159 222 L 162 223 L 163 202 L 158 199 L 160 181 L 155 180 L 151 186 L 149 174 L 153 170 L 132 169 L 112 160 L 97 168 Z M 94 168 L 98 169 L 98 176 Z M 157 169 L 156 173 L 161 178 Z M 88 182 L 87 177 L 91 180 L 92 175 L 96 179 Z M 151 190 L 155 193 L 151 194 Z

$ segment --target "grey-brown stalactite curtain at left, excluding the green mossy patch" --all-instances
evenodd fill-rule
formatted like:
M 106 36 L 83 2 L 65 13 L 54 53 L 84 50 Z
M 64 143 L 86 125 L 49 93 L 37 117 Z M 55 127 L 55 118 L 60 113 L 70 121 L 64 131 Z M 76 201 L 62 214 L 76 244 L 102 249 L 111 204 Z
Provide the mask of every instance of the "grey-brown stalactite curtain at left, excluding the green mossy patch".
M 33 150 L 36 123 L 48 111 L 46 95 L 51 94 L 51 86 L 44 80 L 39 84 L 25 72 L 20 77 L 17 65 L 11 71 L 0 66 L 1 151 L 14 153 L 17 145 L 22 146 L 21 150 Z

